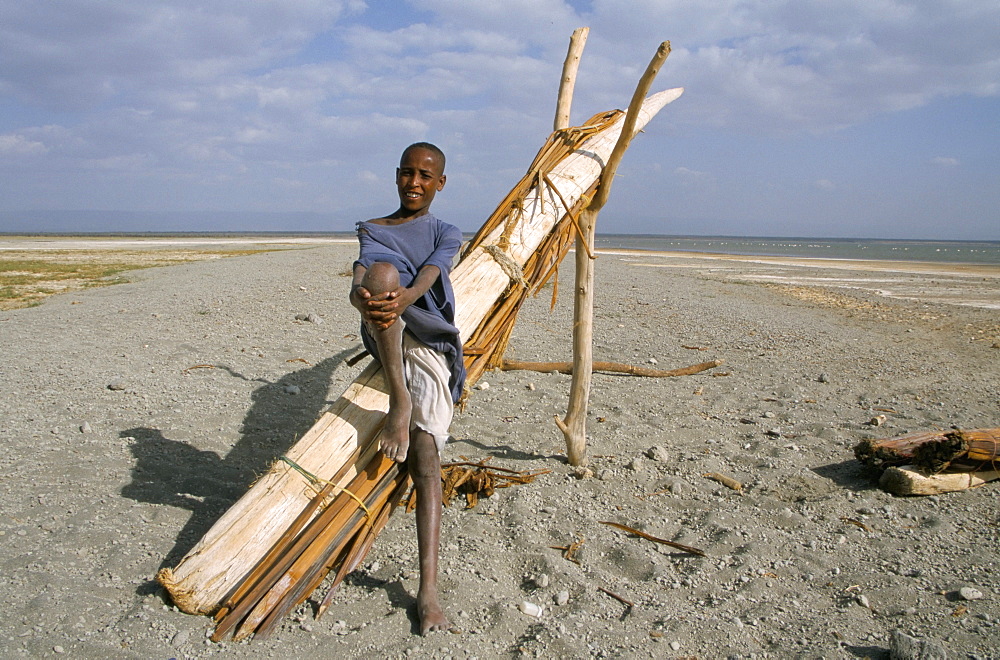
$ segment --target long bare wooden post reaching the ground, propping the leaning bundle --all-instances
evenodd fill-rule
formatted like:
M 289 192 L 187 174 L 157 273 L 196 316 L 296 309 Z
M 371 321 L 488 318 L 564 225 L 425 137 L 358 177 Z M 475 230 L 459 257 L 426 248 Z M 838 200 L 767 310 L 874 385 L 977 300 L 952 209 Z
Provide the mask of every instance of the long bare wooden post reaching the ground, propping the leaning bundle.
M 556 425 L 566 438 L 566 456 L 569 464 L 587 464 L 587 402 L 590 398 L 590 381 L 594 363 L 594 234 L 597 216 L 604 208 L 611 194 L 611 184 L 622 156 L 635 133 L 636 120 L 642 102 L 656 79 L 663 62 L 670 54 L 670 42 L 660 44 L 646 72 L 632 95 L 625 124 L 615 148 L 601 173 L 594 198 L 580 212 L 580 229 L 583 238 L 577 238 L 576 247 L 576 295 L 573 305 L 573 380 L 570 384 L 569 406 L 565 419 L 556 417 Z

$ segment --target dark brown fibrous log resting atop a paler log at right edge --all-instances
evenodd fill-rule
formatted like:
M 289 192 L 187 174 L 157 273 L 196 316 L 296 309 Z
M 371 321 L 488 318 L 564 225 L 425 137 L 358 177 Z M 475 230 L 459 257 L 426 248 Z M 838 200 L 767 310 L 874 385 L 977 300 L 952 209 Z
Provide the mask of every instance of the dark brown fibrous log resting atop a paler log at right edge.
M 898 438 L 862 440 L 854 455 L 874 468 L 912 465 L 928 474 L 997 469 L 1000 428 L 923 431 Z

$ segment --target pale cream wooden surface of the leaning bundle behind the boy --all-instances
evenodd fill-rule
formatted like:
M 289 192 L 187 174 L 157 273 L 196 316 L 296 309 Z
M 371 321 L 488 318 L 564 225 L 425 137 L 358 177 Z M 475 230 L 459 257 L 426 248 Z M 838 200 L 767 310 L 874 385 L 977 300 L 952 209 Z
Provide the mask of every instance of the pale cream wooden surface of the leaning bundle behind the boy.
M 666 90 L 647 98 L 636 130 L 682 91 Z M 519 198 L 516 208 L 509 210 L 509 217 L 479 237 L 476 247 L 452 271 L 456 325 L 464 339 L 476 332 L 516 281 L 516 274 L 510 272 L 511 264 L 522 268 L 564 216 L 579 208 L 581 196 L 600 177 L 623 123 L 621 115 L 548 169 L 544 180 L 539 177 Z M 503 255 L 498 256 L 497 249 Z M 470 380 L 474 381 L 478 373 L 481 370 L 470 370 Z M 345 485 L 364 470 L 378 450 L 375 440 L 388 406 L 382 370 L 373 363 L 286 456 L 322 478 L 340 474 L 338 485 Z M 191 614 L 214 612 L 314 495 L 315 488 L 301 474 L 284 462 L 276 462 L 176 567 L 164 569 L 158 579 L 181 610 Z

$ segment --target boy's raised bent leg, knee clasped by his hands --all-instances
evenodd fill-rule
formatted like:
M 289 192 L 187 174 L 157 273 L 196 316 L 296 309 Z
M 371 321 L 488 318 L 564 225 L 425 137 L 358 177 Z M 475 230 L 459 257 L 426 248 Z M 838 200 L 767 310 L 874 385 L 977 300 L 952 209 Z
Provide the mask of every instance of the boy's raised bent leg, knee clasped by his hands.
M 399 271 L 392 264 L 376 262 L 365 272 L 361 285 L 373 296 L 399 288 Z M 396 320 L 384 330 L 369 327 L 378 345 L 379 360 L 389 383 L 389 413 L 379 437 L 379 447 L 388 458 L 402 463 L 410 445 L 410 393 L 403 372 L 403 324 Z

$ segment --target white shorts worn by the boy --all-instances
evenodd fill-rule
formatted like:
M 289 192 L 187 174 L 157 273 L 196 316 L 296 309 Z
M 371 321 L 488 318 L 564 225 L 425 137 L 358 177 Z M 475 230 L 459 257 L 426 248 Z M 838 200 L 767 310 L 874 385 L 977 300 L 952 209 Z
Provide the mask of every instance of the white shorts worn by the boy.
M 419 428 L 434 436 L 438 453 L 448 442 L 448 429 L 455 413 L 451 400 L 451 370 L 444 355 L 403 331 L 403 374 L 413 411 L 410 430 Z

